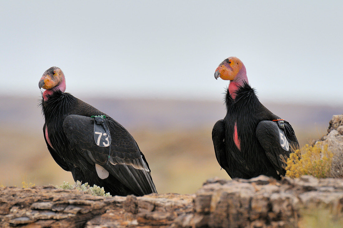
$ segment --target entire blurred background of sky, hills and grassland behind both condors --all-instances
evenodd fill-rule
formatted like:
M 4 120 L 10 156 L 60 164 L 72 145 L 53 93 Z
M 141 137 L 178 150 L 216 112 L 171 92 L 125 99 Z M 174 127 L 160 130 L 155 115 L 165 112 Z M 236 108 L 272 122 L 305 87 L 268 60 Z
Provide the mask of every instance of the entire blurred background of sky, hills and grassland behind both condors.
M 37 106 L 51 66 L 66 92 L 135 138 L 159 193 L 194 193 L 220 169 L 218 64 L 240 58 L 264 106 L 300 145 L 342 114 L 341 1 L 1 1 L 0 184 L 72 182 L 51 158 Z

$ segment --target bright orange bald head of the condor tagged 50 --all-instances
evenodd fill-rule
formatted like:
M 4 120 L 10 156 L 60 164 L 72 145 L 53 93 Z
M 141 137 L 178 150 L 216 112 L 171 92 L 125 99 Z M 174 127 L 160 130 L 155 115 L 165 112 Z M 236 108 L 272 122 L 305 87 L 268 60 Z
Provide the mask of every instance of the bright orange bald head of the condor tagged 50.
M 223 80 L 233 81 L 239 73 L 244 73 L 243 71 L 246 74 L 243 62 L 237 57 L 229 57 L 219 64 L 215 70 L 214 78 L 220 77 Z

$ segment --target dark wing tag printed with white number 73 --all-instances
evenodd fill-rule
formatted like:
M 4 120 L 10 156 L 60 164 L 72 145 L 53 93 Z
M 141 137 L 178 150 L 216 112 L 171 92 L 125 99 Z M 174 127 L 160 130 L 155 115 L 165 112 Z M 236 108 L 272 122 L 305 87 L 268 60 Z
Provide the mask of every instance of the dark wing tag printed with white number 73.
M 111 134 L 109 132 L 105 116 L 93 116 L 94 118 L 94 141 L 101 147 L 107 147 L 111 144 Z

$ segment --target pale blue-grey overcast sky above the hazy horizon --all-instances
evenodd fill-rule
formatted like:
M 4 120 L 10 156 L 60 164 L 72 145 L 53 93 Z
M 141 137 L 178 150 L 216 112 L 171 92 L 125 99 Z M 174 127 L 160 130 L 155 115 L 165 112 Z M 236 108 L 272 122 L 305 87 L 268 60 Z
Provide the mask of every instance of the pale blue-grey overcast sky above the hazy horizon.
M 343 104 L 343 1 L 0 2 L 0 95 L 51 66 L 85 96 L 222 100 L 225 58 L 261 100 Z

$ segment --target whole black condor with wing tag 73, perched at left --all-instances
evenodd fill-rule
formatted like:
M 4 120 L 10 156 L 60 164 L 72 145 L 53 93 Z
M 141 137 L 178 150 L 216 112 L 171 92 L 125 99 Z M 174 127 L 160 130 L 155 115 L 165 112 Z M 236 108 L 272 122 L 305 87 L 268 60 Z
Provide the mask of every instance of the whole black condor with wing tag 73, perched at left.
M 111 195 L 157 193 L 131 134 L 107 114 L 64 93 L 66 80 L 60 68 L 46 70 L 38 85 L 46 89 L 40 104 L 48 150 L 75 181 L 104 187 Z

